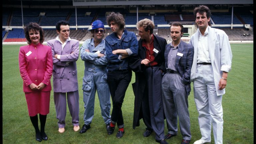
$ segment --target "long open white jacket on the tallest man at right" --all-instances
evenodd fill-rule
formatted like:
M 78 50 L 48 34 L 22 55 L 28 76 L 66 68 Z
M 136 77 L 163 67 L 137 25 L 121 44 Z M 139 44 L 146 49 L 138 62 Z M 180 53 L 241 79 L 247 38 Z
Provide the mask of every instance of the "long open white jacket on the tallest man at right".
M 219 90 L 219 81 L 222 77 L 222 71 L 229 72 L 231 70 L 232 52 L 227 34 L 220 29 L 209 28 L 208 33 L 208 49 L 213 68 L 213 77 L 217 95 L 225 94 L 225 88 Z M 199 29 L 191 36 L 189 44 L 194 47 L 194 59 L 191 68 L 190 81 L 195 80 L 197 68 L 197 49 L 199 40 Z

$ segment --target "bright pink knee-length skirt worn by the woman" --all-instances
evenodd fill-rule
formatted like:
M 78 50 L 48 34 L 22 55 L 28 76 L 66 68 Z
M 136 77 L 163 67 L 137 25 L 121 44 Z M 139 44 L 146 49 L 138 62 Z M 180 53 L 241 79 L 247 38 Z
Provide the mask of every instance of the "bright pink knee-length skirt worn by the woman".
M 51 91 L 25 93 L 28 105 L 28 115 L 35 116 L 38 113 L 47 115 L 50 108 Z

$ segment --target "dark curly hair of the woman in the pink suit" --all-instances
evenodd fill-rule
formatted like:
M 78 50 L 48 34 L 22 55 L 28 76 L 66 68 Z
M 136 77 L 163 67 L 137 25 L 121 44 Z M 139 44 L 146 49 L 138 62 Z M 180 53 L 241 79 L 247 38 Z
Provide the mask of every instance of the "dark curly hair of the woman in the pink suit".
M 39 26 L 39 24 L 35 23 L 35 22 L 30 22 L 28 23 L 25 27 L 24 27 L 24 33 L 25 33 L 25 37 L 27 39 L 27 43 L 31 44 L 31 40 L 29 37 L 29 31 L 33 29 L 33 30 L 38 30 L 39 34 L 40 34 L 40 43 L 42 44 L 44 42 L 44 31 L 43 29 Z

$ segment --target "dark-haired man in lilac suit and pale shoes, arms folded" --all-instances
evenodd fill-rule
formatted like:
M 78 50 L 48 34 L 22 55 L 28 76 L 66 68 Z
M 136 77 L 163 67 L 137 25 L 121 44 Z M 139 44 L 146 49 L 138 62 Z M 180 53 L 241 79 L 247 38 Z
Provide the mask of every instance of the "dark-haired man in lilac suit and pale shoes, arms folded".
M 56 24 L 58 36 L 49 40 L 53 57 L 53 91 L 59 132 L 65 131 L 66 94 L 74 131 L 79 128 L 79 94 L 76 61 L 79 56 L 79 41 L 69 37 L 69 22 Z

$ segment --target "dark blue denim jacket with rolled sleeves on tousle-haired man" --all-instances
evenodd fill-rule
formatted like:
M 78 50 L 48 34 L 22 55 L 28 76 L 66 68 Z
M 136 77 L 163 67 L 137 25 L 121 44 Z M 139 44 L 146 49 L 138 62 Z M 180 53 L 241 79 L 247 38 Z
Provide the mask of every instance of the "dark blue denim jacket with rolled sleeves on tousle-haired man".
M 124 29 L 122 38 L 119 39 L 116 33 L 105 38 L 106 55 L 109 64 L 107 65 L 108 70 L 124 70 L 129 69 L 128 59 L 130 56 L 138 54 L 138 40 L 134 32 L 127 31 Z M 121 55 L 113 54 L 113 50 L 125 49 L 129 57 L 121 59 Z

